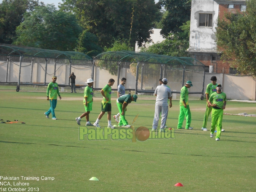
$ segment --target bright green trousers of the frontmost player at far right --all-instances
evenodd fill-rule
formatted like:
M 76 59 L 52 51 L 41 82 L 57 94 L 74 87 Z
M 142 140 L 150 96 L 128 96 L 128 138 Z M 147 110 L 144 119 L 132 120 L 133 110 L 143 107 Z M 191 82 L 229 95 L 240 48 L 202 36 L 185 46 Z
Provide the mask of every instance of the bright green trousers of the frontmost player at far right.
M 222 129 L 222 118 L 223 118 L 223 109 L 214 109 L 212 108 L 212 128 L 211 133 L 215 131 L 215 126 L 217 128 L 216 138 L 220 139 L 221 129 Z

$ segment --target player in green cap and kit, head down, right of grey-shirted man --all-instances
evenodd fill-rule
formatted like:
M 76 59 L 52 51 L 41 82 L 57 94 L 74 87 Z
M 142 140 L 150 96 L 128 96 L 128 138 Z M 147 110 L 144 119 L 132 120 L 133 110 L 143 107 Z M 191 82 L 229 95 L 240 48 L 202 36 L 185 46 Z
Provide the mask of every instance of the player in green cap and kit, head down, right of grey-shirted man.
M 186 85 L 181 88 L 180 100 L 179 100 L 179 122 L 177 129 L 182 129 L 184 116 L 186 115 L 186 127 L 185 129 L 193 129 L 190 127 L 191 123 L 191 112 L 188 105 L 188 89 L 193 86 L 191 81 L 187 81 Z

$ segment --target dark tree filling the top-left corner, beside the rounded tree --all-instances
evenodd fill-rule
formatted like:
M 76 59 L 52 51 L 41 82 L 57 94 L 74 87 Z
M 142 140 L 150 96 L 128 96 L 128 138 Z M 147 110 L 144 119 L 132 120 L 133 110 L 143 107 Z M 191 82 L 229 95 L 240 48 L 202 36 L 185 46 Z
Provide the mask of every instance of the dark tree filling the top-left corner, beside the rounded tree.
M 0 3 L 0 43 L 12 44 L 24 13 L 36 6 L 44 6 L 44 3 L 38 0 L 3 0 Z

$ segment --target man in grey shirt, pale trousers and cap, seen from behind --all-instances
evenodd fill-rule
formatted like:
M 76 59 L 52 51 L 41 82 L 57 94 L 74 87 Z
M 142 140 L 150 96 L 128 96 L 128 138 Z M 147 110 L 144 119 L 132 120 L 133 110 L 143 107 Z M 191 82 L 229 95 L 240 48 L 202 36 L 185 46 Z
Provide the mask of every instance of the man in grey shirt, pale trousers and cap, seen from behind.
M 166 124 L 166 119 L 168 115 L 168 99 L 170 99 L 170 108 L 172 107 L 172 93 L 169 87 L 166 86 L 167 79 L 162 79 L 163 84 L 157 86 L 155 90 L 156 106 L 155 106 L 155 116 L 153 120 L 153 127 L 151 131 L 156 131 L 159 121 L 160 113 L 162 114 L 161 127 L 160 132 L 164 131 L 164 127 Z

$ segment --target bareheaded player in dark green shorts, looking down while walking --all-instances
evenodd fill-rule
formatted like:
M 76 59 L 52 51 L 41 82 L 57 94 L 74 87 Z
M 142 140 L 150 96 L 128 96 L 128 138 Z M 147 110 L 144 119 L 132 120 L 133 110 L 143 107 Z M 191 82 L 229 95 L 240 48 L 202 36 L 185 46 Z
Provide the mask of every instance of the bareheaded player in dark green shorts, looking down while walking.
M 110 79 L 108 81 L 108 84 L 103 87 L 103 89 L 100 91 L 100 93 L 103 96 L 103 100 L 101 102 L 101 113 L 98 116 L 98 119 L 93 124 L 95 127 L 99 126 L 99 121 L 102 118 L 102 116 L 107 112 L 107 122 L 108 122 L 108 128 L 114 129 L 115 127 L 111 125 L 111 86 L 113 86 L 115 83 L 114 79 Z

